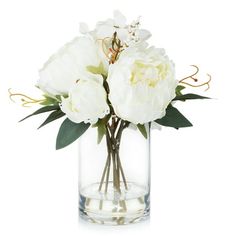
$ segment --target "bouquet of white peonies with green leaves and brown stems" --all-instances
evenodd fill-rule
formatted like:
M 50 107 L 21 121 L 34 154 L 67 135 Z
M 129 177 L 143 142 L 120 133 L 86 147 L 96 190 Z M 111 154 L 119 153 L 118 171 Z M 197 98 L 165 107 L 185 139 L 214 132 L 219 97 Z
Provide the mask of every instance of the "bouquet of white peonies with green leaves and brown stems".
M 119 155 L 123 131 L 136 126 L 136 132 L 147 138 L 152 123 L 176 129 L 192 126 L 173 102 L 207 98 L 182 92 L 189 85 L 209 87 L 210 76 L 207 82 L 195 85 L 192 82 L 197 82 L 198 68 L 194 66 L 196 73 L 178 81 L 165 50 L 147 43 L 151 34 L 140 28 L 140 20 L 127 24 L 118 11 L 113 19 L 98 22 L 92 31 L 81 24 L 80 32 L 39 71 L 37 87 L 44 98 L 22 95 L 24 105 L 42 106 L 26 118 L 49 113 L 42 127 L 66 117 L 56 149 L 71 144 L 89 128 L 96 129 L 98 145 L 106 137 L 108 153 L 99 191 L 103 186 L 104 194 L 109 191 L 109 173 L 113 171 L 113 190 L 121 193 L 122 186 L 126 191 L 129 188 Z

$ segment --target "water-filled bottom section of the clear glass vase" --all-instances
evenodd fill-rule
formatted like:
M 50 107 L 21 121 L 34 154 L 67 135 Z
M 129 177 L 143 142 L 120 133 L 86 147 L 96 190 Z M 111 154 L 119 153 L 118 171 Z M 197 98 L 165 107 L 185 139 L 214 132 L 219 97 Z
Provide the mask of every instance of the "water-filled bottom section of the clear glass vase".
M 83 220 L 104 225 L 127 225 L 149 218 L 149 192 L 134 183 L 121 192 L 109 183 L 107 193 L 98 191 L 99 184 L 81 190 L 79 213 Z

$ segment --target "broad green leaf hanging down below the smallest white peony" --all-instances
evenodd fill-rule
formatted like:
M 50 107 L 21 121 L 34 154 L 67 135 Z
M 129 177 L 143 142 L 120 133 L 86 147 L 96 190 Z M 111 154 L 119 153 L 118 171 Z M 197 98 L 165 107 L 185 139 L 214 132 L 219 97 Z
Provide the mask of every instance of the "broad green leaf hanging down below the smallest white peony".
M 74 123 L 68 118 L 65 119 L 59 129 L 56 141 L 56 150 L 64 148 L 78 139 L 88 128 L 90 124 Z

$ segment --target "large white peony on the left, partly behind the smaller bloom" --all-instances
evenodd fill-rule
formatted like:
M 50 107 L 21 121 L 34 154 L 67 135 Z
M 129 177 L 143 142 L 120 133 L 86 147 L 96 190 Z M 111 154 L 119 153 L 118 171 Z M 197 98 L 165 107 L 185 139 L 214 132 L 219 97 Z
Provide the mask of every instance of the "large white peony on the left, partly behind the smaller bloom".
M 66 95 L 81 77 L 91 77 L 88 66 L 101 67 L 104 63 L 96 41 L 90 37 L 77 37 L 44 64 L 37 86 L 51 96 Z M 93 77 L 97 78 L 96 75 Z

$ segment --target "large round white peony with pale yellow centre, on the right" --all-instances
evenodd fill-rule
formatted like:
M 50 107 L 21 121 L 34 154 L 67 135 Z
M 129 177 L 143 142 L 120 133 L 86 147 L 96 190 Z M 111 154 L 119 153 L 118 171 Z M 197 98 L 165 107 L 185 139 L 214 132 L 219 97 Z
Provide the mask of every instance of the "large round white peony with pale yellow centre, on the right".
M 175 97 L 174 65 L 164 49 L 126 49 L 108 73 L 109 100 L 120 118 L 144 124 L 165 116 Z

